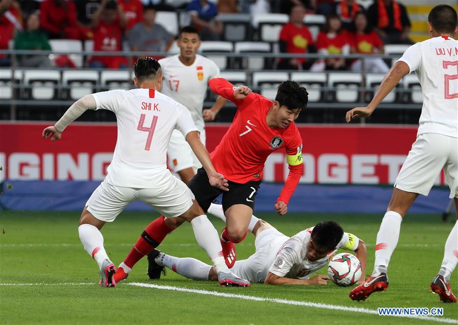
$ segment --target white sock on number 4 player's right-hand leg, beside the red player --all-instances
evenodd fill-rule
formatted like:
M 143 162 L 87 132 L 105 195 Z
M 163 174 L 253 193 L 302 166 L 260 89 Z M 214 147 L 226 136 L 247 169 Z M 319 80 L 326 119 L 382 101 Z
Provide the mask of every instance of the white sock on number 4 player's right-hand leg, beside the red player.
M 224 262 L 220 237 L 207 216 L 203 214 L 194 218 L 191 220 L 191 226 L 193 226 L 197 243 L 207 252 L 217 272 L 229 273 L 229 269 Z

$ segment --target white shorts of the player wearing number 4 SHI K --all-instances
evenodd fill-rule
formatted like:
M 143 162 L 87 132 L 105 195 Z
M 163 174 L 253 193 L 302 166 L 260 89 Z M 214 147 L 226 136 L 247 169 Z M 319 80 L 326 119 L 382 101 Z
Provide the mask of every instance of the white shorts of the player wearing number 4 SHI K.
M 166 185 L 158 188 L 120 187 L 103 180 L 88 199 L 86 207 L 97 219 L 111 222 L 137 199 L 166 217 L 177 217 L 191 208 L 194 194 L 172 174 Z

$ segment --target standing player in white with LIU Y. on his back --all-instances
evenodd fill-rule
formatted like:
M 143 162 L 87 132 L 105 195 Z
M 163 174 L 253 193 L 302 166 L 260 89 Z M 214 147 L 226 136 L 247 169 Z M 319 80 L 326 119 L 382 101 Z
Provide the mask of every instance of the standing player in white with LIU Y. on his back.
M 388 264 L 399 239 L 402 218 L 419 194 L 428 195 L 444 169 L 458 211 L 458 33 L 456 11 L 448 5 L 434 7 L 428 15 L 432 38 L 410 46 L 387 73 L 367 107 L 346 113 L 346 121 L 368 117 L 406 74 L 415 71 L 423 92 L 417 139 L 402 165 L 383 217 L 375 246 L 372 276 L 350 292 L 353 300 L 364 300 L 388 287 Z M 458 217 L 458 213 L 457 213 Z M 456 303 L 450 277 L 458 262 L 458 221 L 445 242 L 444 259 L 430 289 L 442 302 Z

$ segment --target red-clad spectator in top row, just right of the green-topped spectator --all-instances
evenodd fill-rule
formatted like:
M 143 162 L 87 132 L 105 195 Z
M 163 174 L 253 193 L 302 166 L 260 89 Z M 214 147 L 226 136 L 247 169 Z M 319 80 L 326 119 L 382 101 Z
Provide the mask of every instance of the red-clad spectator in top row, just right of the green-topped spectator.
M 48 38 L 88 39 L 92 33 L 78 26 L 75 4 L 69 0 L 44 0 L 40 4 L 41 28 Z

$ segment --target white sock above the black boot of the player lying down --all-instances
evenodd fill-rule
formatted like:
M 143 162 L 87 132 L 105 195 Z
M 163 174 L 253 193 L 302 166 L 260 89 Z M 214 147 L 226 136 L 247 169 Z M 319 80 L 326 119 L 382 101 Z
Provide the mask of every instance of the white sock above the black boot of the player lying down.
M 160 266 L 166 266 L 180 276 L 193 280 L 208 280 L 208 273 L 211 269 L 211 265 L 199 260 L 190 257 L 178 258 L 164 253 L 160 253 L 155 261 Z

